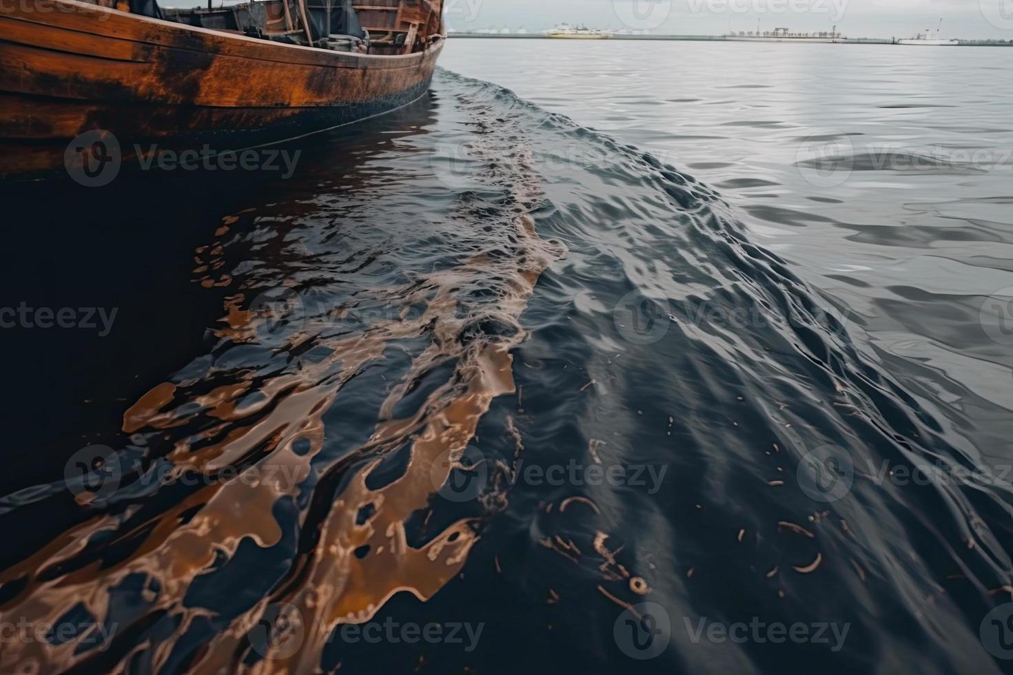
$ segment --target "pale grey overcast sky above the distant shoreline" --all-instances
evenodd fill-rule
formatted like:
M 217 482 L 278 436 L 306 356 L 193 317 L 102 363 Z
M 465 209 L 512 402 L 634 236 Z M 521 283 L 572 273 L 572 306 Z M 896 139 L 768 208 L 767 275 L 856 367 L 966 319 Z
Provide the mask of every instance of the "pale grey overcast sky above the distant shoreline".
M 655 33 L 720 34 L 785 26 L 849 37 L 907 37 L 943 19 L 942 37 L 1013 39 L 1013 0 L 445 0 L 457 30 L 559 22 Z M 1010 54 L 1013 58 L 1013 50 Z

